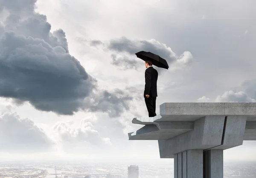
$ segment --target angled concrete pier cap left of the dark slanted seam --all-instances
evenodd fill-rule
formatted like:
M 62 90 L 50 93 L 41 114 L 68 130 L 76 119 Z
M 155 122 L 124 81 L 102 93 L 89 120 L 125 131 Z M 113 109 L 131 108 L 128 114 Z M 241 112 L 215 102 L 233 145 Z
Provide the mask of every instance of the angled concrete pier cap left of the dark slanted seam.
M 225 116 L 206 116 L 195 121 L 194 129 L 169 140 L 158 140 L 160 158 L 173 158 L 185 150 L 206 150 L 221 145 Z

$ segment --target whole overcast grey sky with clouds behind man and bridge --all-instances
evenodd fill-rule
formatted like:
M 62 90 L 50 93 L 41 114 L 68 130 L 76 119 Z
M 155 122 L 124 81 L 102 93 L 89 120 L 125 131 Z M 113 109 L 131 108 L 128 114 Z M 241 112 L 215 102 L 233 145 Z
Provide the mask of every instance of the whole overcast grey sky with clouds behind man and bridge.
M 164 102 L 255 102 L 255 0 L 0 0 L 0 157 L 160 159 L 128 141 L 147 116 L 144 62 Z M 224 152 L 256 158 L 256 142 Z M 239 151 L 239 155 L 237 154 Z M 253 152 L 253 156 L 252 156 Z M 150 155 L 150 156 L 149 156 Z

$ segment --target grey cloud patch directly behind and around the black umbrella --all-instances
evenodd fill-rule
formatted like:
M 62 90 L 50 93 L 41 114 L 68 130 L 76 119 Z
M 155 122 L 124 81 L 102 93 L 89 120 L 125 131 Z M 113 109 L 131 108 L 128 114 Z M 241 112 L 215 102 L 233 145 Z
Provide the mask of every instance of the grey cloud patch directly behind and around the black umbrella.
M 99 40 L 95 40 L 99 41 Z M 92 41 L 93 42 L 93 41 Z M 98 44 L 103 44 L 98 42 Z M 180 57 L 178 57 L 170 47 L 166 46 L 163 43 L 158 42 L 157 40 L 130 40 L 127 37 L 121 37 L 118 39 L 110 40 L 107 45 L 107 49 L 112 51 L 111 54 L 111 64 L 122 67 L 125 69 L 137 69 L 136 66 L 141 63 L 141 60 L 135 59 L 135 53 L 139 51 L 150 51 L 154 54 L 163 57 L 168 62 L 169 66 L 172 67 L 172 64 L 179 61 L 184 65 L 189 64 L 192 60 L 192 55 L 190 52 L 185 51 Z M 127 56 L 129 55 L 129 57 Z M 161 68 L 158 69 L 160 72 Z

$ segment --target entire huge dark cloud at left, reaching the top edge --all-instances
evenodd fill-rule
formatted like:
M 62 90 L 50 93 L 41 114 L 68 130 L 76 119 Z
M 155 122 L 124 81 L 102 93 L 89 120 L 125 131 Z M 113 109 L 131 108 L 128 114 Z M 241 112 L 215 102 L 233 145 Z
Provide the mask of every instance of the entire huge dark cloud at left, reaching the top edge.
M 0 27 L 0 96 L 59 114 L 71 115 L 79 109 L 105 111 L 100 106 L 96 109 L 91 99 L 104 103 L 101 92 L 107 91 L 92 93 L 97 89 L 96 79 L 69 54 L 64 31 L 50 32 L 46 16 L 35 13 L 35 2 L 0 1 L 2 13 L 9 12 L 5 26 Z M 119 116 L 128 105 L 115 99 L 120 93 L 110 94 L 113 97 L 107 102 L 116 110 L 111 116 Z

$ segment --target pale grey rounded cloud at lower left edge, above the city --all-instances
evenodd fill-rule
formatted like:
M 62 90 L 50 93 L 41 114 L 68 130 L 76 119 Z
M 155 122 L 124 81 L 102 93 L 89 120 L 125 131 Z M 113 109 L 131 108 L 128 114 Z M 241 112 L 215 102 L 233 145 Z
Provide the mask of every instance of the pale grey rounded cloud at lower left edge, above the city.
M 30 119 L 15 113 L 0 116 L 0 151 L 31 153 L 51 151 L 55 142 Z

